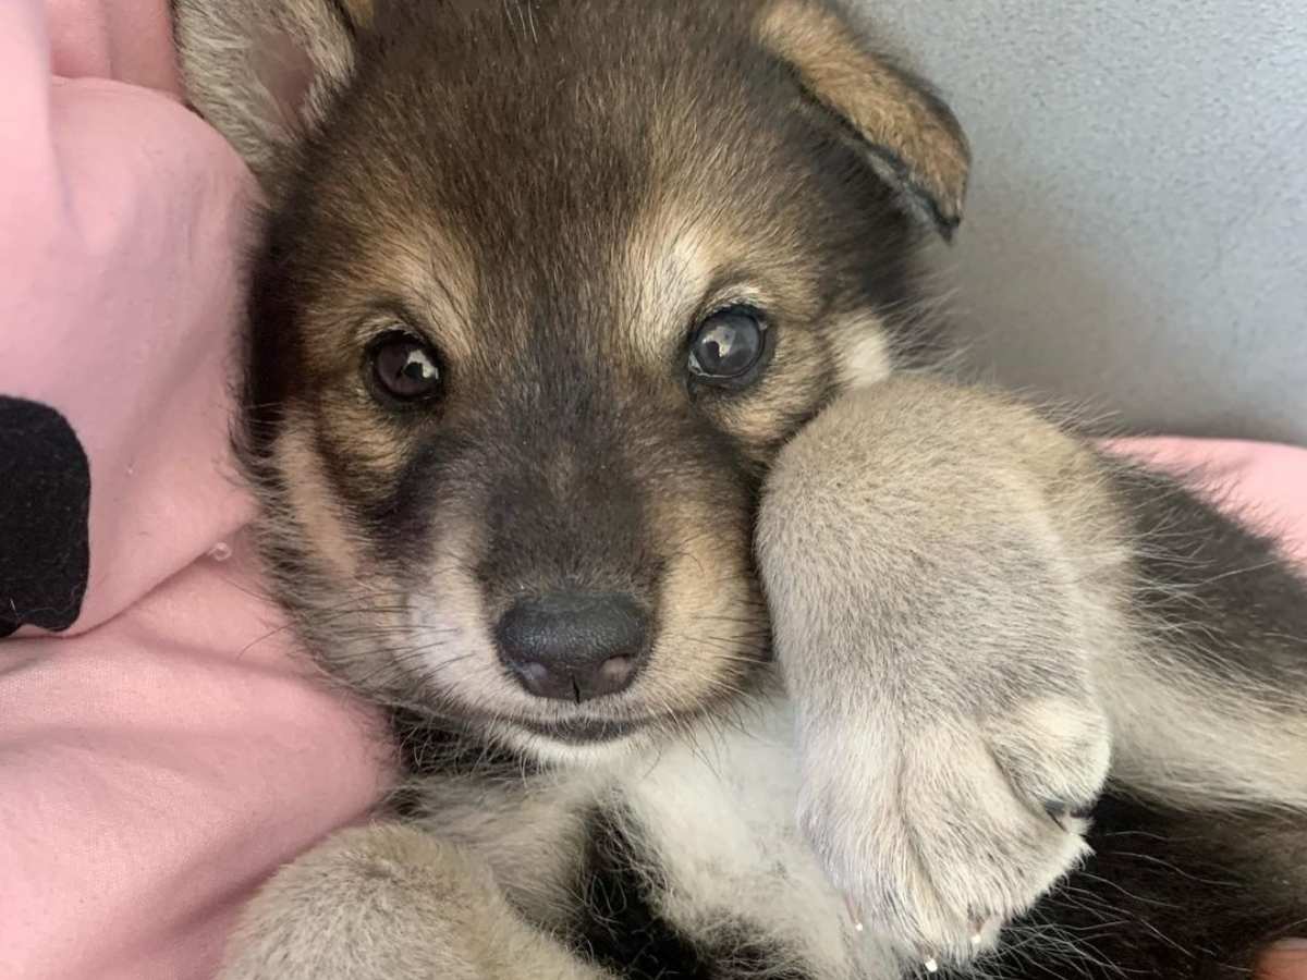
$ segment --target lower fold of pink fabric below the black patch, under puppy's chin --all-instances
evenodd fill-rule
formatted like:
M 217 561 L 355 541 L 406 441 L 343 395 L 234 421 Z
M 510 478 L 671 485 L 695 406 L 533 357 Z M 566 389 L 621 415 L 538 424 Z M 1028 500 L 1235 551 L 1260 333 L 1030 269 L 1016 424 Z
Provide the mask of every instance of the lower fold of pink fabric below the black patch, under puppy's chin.
M 376 796 L 366 723 L 255 587 L 201 559 L 89 634 L 0 643 L 0 976 L 210 976 L 250 890 Z

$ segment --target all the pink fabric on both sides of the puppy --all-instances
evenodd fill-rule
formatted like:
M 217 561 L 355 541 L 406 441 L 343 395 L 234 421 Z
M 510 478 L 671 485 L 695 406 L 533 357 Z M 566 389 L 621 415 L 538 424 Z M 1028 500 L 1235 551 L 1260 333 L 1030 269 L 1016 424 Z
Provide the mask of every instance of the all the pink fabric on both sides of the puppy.
M 251 571 L 252 184 L 176 91 L 166 0 L 0 3 L 0 977 L 210 975 L 237 904 L 388 771 Z M 1136 448 L 1217 460 L 1307 537 L 1307 452 Z

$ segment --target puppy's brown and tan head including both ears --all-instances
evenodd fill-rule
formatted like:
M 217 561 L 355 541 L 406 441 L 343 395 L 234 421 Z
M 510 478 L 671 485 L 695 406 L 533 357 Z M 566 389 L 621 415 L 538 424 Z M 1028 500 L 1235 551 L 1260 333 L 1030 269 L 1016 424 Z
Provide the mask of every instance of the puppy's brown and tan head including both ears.
M 240 447 L 353 687 L 540 751 L 757 683 L 752 525 L 923 344 L 966 145 L 817 0 L 178 0 L 263 179 Z

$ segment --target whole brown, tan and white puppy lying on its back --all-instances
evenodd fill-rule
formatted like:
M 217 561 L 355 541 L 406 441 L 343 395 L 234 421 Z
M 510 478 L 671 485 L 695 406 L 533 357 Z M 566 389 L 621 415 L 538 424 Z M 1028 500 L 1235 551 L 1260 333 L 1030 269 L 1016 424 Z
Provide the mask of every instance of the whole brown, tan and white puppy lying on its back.
M 1307 589 L 935 370 L 968 150 L 847 12 L 175 14 L 267 189 L 267 563 L 409 776 L 227 977 L 1234 977 L 1302 924 Z

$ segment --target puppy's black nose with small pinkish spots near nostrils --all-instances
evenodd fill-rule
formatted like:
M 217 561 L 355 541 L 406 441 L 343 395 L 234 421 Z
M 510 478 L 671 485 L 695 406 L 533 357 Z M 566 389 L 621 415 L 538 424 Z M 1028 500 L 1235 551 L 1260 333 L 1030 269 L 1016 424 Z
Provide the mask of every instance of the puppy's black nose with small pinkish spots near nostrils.
M 618 593 L 557 592 L 499 619 L 499 659 L 538 698 L 591 700 L 630 686 L 648 649 L 648 615 Z

